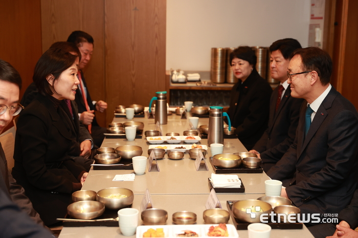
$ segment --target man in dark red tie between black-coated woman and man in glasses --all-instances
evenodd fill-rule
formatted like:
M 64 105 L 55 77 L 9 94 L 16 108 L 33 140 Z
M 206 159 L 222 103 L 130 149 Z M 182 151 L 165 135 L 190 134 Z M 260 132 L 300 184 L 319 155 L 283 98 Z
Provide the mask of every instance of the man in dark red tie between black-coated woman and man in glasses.
M 291 96 L 291 89 L 287 83 L 287 67 L 289 56 L 298 48 L 302 48 L 301 44 L 290 38 L 277 40 L 270 46 L 271 76 L 279 81 L 280 85 L 271 95 L 269 126 L 254 148 L 249 151 L 258 154 L 265 172 L 276 165 L 296 137 L 303 99 Z

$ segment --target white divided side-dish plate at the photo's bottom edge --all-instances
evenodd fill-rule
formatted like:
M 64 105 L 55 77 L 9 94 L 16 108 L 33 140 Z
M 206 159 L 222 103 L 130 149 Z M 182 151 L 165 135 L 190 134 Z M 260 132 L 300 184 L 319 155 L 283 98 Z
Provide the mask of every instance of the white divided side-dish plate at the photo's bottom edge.
M 149 228 L 156 229 L 156 228 L 163 228 L 164 231 L 164 237 L 177 237 L 177 234 L 180 234 L 183 232 L 183 230 L 191 230 L 198 234 L 198 237 L 211 237 L 208 236 L 209 228 L 211 226 L 218 226 L 218 224 L 212 224 L 212 225 L 157 225 L 157 226 L 138 226 L 136 237 L 142 238 L 143 233 L 146 232 Z M 228 228 L 228 233 L 231 238 L 237 238 L 239 237 L 239 234 L 236 231 L 236 228 L 232 224 L 226 224 L 226 227 Z

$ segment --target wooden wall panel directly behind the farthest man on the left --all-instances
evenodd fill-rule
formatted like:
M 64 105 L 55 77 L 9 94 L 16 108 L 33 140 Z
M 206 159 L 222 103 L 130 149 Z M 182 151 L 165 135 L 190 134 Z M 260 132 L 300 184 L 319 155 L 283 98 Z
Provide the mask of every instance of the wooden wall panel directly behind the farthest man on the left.
M 76 30 L 94 38 L 93 56 L 84 76 L 93 100 L 107 101 L 104 65 L 104 0 L 41 0 L 42 51 L 56 41 L 66 41 Z M 106 126 L 105 113 L 96 113 Z M 110 115 L 113 112 L 110 110 Z

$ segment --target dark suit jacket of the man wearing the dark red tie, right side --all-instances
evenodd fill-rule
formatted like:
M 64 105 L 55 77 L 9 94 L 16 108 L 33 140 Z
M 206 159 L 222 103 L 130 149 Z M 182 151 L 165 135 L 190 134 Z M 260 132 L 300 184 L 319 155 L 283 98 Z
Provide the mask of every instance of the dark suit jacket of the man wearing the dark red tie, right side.
M 301 98 L 292 97 L 288 86 L 275 112 L 277 95 L 278 87 L 270 99 L 269 126 L 254 146 L 254 149 L 260 152 L 262 168 L 265 172 L 269 171 L 294 143 L 300 108 L 304 101 Z

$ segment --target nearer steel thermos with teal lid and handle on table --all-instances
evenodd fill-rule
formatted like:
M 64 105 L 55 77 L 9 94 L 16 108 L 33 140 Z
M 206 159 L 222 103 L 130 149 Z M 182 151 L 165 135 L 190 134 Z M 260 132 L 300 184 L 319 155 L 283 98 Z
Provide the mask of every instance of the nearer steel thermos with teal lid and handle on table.
M 214 143 L 223 144 L 223 116 L 228 118 L 229 130 L 231 122 L 227 113 L 222 112 L 222 107 L 210 107 L 208 126 L 208 146 Z

